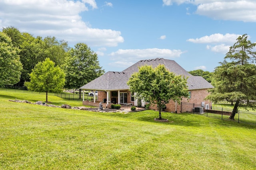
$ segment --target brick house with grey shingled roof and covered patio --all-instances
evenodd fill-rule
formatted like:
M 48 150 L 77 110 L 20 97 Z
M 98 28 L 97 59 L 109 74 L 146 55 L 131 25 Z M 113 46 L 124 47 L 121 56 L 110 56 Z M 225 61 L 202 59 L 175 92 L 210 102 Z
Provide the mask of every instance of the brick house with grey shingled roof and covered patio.
M 103 102 L 102 105 L 104 107 L 108 107 L 111 104 L 132 104 L 133 106 L 137 106 L 137 100 L 134 99 L 134 94 L 129 91 L 127 81 L 134 72 L 138 72 L 140 66 L 145 64 L 151 65 L 152 67 L 164 64 L 170 72 L 174 72 L 176 75 L 188 76 L 187 85 L 190 97 L 188 99 L 184 98 L 182 102 L 204 104 L 206 106 L 210 104 L 210 101 L 204 100 L 208 95 L 207 90 L 214 88 L 209 82 L 202 78 L 202 76 L 192 76 L 175 61 L 163 58 L 140 60 L 121 72 L 108 71 L 102 76 L 85 84 L 80 87 L 80 89 L 93 90 L 94 92 L 97 90 L 98 101 L 95 100 L 95 95 L 93 102 L 84 101 L 83 96 L 83 104 L 99 106 L 98 102 Z M 142 101 L 142 106 L 144 106 L 144 104 L 145 102 Z M 150 108 L 156 109 L 156 106 L 151 106 Z M 170 101 L 170 103 L 166 105 L 166 111 L 179 113 L 180 106 L 175 101 Z

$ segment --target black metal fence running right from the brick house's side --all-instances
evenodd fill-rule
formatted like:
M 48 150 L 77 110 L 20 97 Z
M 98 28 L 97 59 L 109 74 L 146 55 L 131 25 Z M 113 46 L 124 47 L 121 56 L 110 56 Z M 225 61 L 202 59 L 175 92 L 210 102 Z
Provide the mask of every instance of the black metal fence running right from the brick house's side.
M 203 115 L 206 117 L 212 117 L 215 119 L 222 119 L 226 121 L 231 121 L 229 119 L 232 109 L 226 109 L 223 107 L 214 107 L 210 105 L 200 105 L 200 104 L 191 104 L 182 102 L 181 103 L 181 112 L 189 112 L 193 114 Z M 256 125 L 256 113 L 250 111 L 238 110 L 234 120 L 238 123 L 245 123 L 249 125 Z

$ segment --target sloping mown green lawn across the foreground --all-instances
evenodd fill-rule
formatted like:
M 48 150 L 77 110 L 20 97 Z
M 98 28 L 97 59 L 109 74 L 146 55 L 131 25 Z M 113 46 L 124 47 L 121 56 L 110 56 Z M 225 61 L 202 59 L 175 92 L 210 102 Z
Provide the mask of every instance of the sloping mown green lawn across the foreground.
M 0 169 L 255 170 L 255 126 L 188 113 L 95 113 L 9 102 L 0 91 Z M 82 102 L 49 96 L 55 105 Z

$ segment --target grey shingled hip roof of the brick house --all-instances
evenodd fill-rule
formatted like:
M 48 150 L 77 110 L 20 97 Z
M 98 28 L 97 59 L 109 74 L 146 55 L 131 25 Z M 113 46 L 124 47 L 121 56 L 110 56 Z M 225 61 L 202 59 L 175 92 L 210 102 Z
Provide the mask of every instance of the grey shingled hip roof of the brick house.
M 168 70 L 170 70 L 170 72 L 174 72 L 174 74 L 176 75 L 188 76 L 187 85 L 189 90 L 213 88 L 213 86 L 204 78 L 202 78 L 201 76 L 192 76 L 175 61 L 157 58 L 138 61 L 137 63 L 123 70 L 122 72 L 106 72 L 102 76 L 80 87 L 80 89 L 99 91 L 128 90 L 129 86 L 127 85 L 127 81 L 129 80 L 132 73 L 138 72 L 139 67 L 146 64 L 151 65 L 152 67 L 156 67 L 159 64 L 164 64 L 164 66 Z

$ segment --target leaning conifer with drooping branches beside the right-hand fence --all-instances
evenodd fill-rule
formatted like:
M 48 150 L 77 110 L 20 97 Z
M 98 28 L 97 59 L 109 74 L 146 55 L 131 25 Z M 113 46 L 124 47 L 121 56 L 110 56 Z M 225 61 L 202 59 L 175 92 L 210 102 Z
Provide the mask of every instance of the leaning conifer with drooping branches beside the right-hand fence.
M 214 89 L 210 90 L 208 100 L 218 102 L 222 100 L 234 101 L 234 108 L 229 119 L 233 119 L 239 104 L 245 107 L 256 106 L 256 52 L 251 51 L 256 43 L 247 40 L 246 34 L 239 36 L 237 42 L 230 47 L 224 57 L 224 62 L 216 67 L 213 75 Z M 227 61 L 230 60 L 230 62 Z

